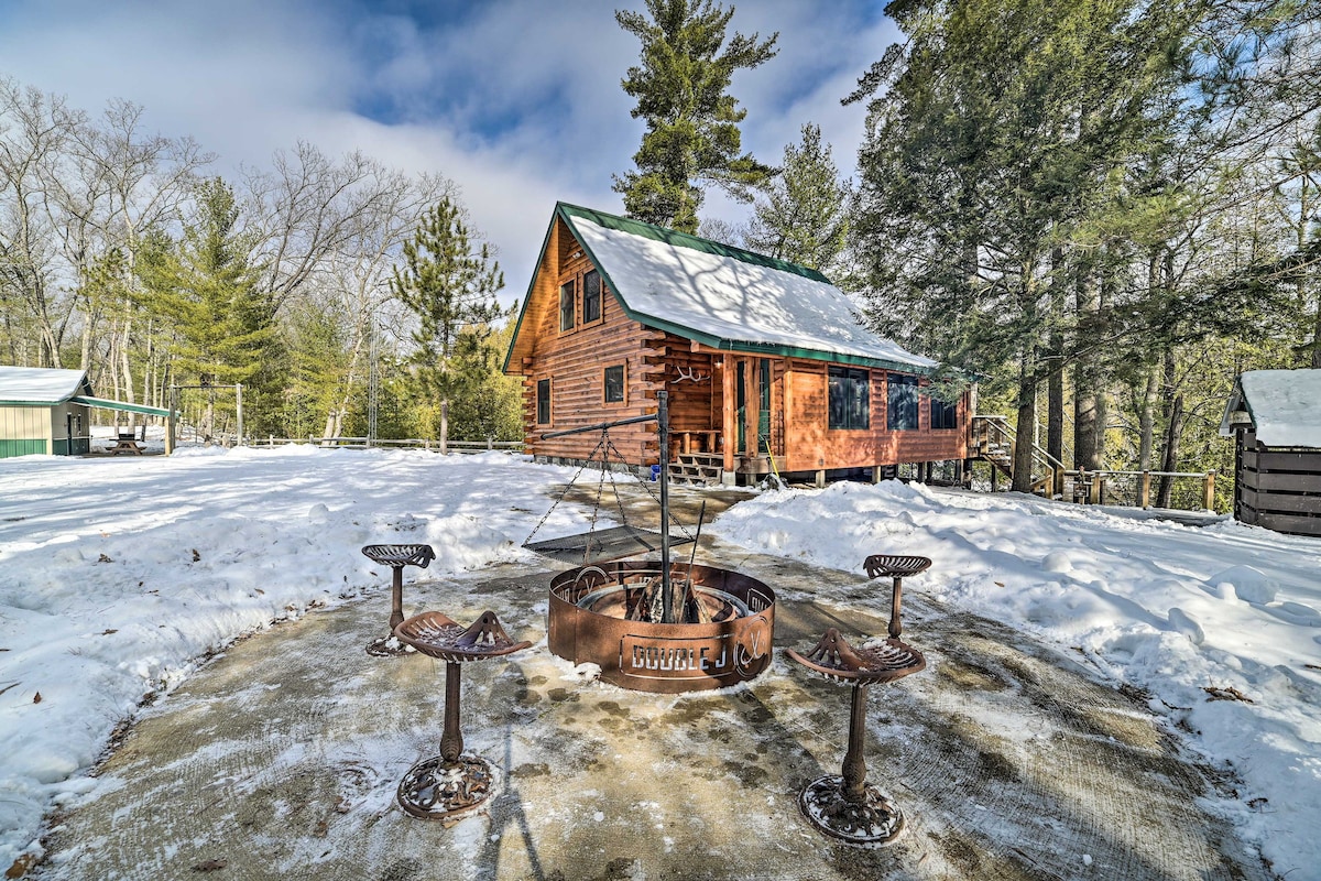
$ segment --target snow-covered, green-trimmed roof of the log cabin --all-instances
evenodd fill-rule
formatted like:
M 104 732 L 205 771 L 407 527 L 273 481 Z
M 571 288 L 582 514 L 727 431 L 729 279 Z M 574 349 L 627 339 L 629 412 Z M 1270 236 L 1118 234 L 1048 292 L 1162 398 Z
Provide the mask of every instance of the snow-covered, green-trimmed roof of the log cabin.
M 642 324 L 717 349 L 915 372 L 938 366 L 864 328 L 848 296 L 819 272 L 635 221 L 560 207 L 625 312 Z

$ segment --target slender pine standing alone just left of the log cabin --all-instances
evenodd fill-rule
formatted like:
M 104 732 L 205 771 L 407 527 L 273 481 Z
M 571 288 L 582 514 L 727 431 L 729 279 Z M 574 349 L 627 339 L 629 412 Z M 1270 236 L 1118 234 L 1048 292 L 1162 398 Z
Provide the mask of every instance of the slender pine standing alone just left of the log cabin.
M 440 441 L 449 440 L 449 402 L 464 394 L 474 361 L 485 357 L 483 341 L 501 316 L 495 293 L 505 275 L 489 246 L 473 242 L 464 210 L 449 198 L 423 215 L 417 232 L 404 243 L 403 271 L 391 280 L 395 296 L 419 318 L 413 363 L 427 395 L 440 405 Z

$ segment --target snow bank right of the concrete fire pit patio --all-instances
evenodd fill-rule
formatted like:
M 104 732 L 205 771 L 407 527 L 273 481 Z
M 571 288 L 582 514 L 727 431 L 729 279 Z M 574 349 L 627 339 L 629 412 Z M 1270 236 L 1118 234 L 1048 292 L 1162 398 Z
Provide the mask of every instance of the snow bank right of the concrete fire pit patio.
M 906 590 L 1079 650 L 1149 692 L 1244 782 L 1219 804 L 1276 872 L 1321 877 L 1321 542 L 898 482 L 766 493 L 709 528 L 855 572 L 869 553 L 931 557 Z

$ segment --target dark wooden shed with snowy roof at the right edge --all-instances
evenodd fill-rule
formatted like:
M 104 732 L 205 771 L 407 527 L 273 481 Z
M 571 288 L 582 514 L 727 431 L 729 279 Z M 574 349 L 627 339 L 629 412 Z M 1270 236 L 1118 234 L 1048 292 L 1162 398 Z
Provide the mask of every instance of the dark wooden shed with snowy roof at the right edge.
M 1234 437 L 1234 519 L 1321 536 L 1321 370 L 1242 374 L 1221 433 Z

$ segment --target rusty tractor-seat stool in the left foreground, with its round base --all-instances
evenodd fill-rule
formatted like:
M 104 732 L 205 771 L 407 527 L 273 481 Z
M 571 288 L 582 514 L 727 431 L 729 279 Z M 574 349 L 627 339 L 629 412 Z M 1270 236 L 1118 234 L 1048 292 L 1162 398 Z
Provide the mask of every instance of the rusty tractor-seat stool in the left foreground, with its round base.
M 486 612 L 470 627 L 439 612 L 424 612 L 395 627 L 395 635 L 424 655 L 445 662 L 445 728 L 440 756 L 413 765 L 399 782 L 399 806 L 413 816 L 456 823 L 499 793 L 499 774 L 481 756 L 464 754 L 458 728 L 460 664 L 487 660 L 522 651 L 531 642 L 515 642 L 505 633 L 494 612 Z

